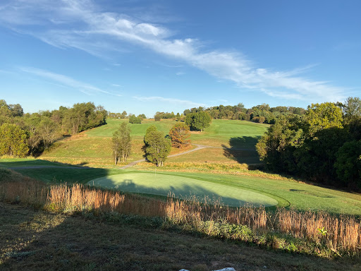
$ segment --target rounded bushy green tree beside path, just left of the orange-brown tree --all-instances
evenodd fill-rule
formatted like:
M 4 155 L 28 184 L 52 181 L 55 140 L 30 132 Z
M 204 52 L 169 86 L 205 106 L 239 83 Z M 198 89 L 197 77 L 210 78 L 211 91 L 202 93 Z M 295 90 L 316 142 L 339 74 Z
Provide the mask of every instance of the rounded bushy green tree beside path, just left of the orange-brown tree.
M 156 164 L 157 167 L 162 167 L 166 157 L 171 152 L 171 139 L 165 138 L 161 131 L 149 131 L 145 135 L 147 147 L 145 148 L 145 155 L 149 162 Z

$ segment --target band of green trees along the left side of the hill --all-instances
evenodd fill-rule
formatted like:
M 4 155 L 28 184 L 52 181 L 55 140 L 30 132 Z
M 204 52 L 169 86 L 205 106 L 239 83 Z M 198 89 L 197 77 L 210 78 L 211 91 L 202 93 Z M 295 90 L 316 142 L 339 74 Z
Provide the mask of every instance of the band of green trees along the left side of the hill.
M 63 135 L 106 124 L 106 116 L 104 107 L 92 102 L 24 114 L 20 104 L 0 100 L 0 155 L 36 155 Z

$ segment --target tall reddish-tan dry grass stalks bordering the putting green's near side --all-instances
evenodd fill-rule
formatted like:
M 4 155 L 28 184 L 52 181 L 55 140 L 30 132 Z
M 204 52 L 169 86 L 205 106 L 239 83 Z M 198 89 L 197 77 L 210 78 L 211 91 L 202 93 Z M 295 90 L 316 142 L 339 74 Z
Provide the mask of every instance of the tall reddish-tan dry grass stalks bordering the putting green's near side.
M 117 212 L 164 217 L 168 223 L 188 225 L 209 235 L 220 225 L 245 225 L 256 235 L 279 233 L 314 242 L 338 254 L 361 252 L 360 221 L 351 216 L 335 217 L 326 212 L 298 212 L 285 208 L 274 212 L 267 212 L 264 207 L 230 208 L 211 203 L 207 198 L 201 203 L 197 198 L 178 200 L 171 195 L 164 201 L 80 184 L 46 186 L 23 176 L 21 181 L 13 179 L 0 182 L 1 200 L 41 205 L 57 212 Z M 326 229 L 324 234 L 319 231 L 322 227 Z M 233 234 L 230 238 L 240 239 L 240 235 Z

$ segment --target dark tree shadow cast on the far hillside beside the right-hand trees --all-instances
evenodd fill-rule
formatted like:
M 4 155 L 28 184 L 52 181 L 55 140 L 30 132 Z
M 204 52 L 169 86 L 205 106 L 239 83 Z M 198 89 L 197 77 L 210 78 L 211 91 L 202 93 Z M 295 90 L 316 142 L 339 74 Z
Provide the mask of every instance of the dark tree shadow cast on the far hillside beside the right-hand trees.
M 224 147 L 224 156 L 240 164 L 261 164 L 255 145 L 260 136 L 242 136 L 230 138 L 229 145 Z

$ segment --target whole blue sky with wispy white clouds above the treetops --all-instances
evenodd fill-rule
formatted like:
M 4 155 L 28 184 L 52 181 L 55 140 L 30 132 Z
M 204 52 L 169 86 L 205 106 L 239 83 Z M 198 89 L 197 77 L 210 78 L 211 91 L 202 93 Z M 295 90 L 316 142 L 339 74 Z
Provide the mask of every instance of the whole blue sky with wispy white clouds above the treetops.
M 0 99 L 25 112 L 304 107 L 361 96 L 361 1 L 1 0 Z

